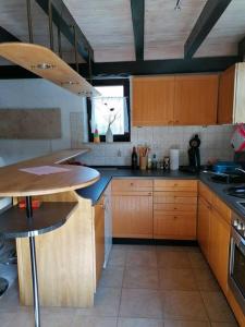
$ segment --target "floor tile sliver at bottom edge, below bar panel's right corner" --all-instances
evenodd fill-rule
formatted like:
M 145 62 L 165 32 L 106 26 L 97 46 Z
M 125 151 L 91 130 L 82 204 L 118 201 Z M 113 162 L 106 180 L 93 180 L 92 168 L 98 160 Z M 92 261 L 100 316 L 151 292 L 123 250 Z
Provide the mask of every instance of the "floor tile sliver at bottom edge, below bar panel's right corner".
M 112 317 L 87 317 L 76 315 L 72 326 L 68 327 L 117 327 L 118 318 Z

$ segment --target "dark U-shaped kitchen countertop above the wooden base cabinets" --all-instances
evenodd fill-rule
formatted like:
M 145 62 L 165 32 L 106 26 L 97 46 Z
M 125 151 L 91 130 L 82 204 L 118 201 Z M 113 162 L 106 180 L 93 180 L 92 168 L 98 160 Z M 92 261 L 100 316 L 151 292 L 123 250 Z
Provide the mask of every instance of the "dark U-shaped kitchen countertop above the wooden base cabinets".
M 94 167 L 96 168 L 96 167 Z M 148 179 L 198 179 L 204 182 L 207 186 L 210 187 L 232 210 L 234 210 L 237 215 L 245 218 L 245 209 L 237 205 L 237 202 L 245 202 L 243 198 L 238 198 L 235 196 L 226 195 L 224 190 L 230 186 L 237 186 L 237 184 L 220 184 L 215 183 L 211 181 L 210 177 L 206 173 L 192 173 L 192 172 L 182 172 L 182 171 L 163 171 L 163 170 L 132 170 L 132 169 L 123 169 L 123 168 L 97 168 L 100 172 L 101 178 L 95 184 L 77 190 L 76 192 L 85 197 L 90 198 L 93 205 L 95 205 L 100 196 L 102 195 L 103 191 L 106 190 L 107 185 L 111 181 L 112 178 L 117 179 L 136 179 L 136 178 L 148 178 Z

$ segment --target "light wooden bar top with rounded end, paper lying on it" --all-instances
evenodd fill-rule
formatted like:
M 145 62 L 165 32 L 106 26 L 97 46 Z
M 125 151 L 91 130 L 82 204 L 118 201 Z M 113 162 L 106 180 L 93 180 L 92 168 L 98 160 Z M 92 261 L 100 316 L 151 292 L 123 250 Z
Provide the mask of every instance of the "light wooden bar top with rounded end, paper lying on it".
M 85 152 L 86 149 L 61 150 L 0 168 L 0 196 L 54 194 L 86 187 L 95 183 L 100 177 L 97 170 L 82 166 L 60 165 Z M 60 167 L 69 170 L 42 175 L 20 170 L 40 166 Z

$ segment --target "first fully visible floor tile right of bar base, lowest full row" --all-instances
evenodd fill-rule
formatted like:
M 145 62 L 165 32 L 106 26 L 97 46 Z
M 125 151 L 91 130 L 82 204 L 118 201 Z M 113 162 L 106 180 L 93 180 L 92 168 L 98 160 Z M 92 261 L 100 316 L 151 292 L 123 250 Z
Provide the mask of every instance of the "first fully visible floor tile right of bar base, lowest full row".
M 162 318 L 159 292 L 143 289 L 122 289 L 120 317 Z

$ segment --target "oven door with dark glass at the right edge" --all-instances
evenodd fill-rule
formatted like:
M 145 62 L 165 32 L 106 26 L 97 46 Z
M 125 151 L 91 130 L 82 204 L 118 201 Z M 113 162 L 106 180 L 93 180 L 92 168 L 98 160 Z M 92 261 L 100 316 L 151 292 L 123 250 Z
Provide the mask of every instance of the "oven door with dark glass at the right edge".
M 245 313 L 245 240 L 232 228 L 229 286 Z

